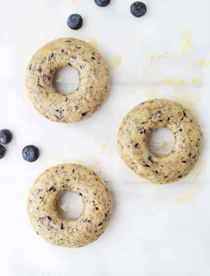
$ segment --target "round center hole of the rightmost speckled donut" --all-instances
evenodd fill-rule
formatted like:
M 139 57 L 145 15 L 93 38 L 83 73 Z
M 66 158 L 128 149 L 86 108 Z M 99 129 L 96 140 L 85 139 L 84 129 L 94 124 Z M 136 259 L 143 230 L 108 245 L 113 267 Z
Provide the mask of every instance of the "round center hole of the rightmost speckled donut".
M 147 137 L 147 148 L 155 155 L 165 156 L 172 151 L 175 139 L 168 128 L 155 128 Z

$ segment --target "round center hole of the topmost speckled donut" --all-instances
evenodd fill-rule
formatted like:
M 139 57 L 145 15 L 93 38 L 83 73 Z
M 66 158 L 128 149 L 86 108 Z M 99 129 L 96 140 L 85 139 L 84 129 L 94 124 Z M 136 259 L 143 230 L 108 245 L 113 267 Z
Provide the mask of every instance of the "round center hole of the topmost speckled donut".
M 77 89 L 79 75 L 73 67 L 61 67 L 55 71 L 52 78 L 52 86 L 63 95 L 70 94 Z

